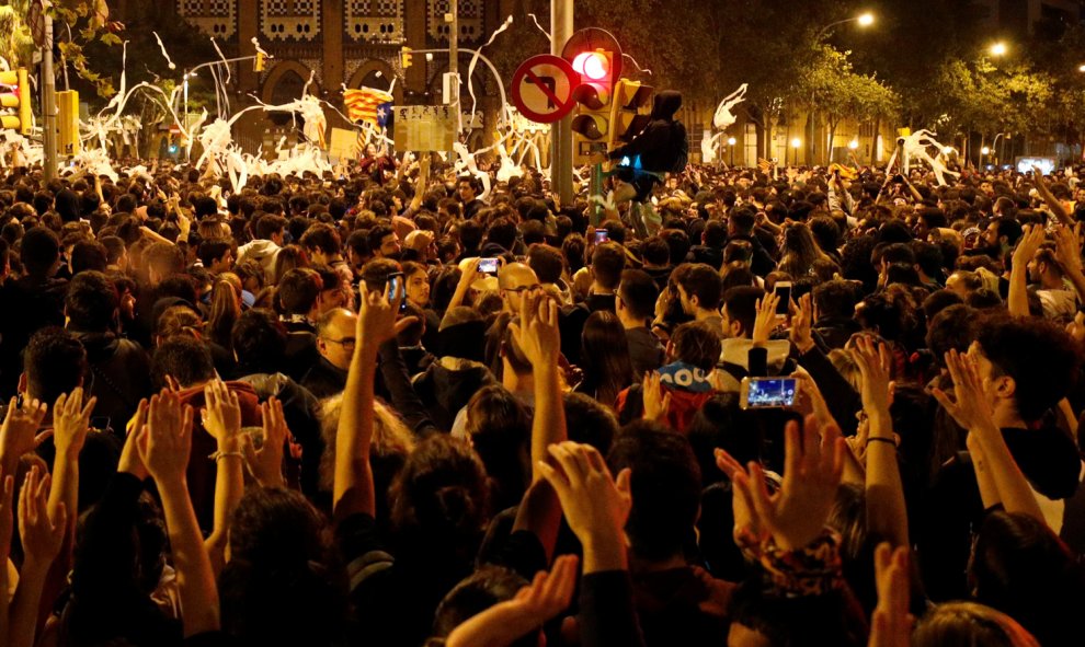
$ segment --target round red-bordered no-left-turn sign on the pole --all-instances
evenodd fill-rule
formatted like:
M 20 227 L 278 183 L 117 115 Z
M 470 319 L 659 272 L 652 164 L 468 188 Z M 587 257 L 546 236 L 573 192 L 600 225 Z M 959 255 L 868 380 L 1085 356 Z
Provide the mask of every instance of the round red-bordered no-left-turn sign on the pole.
M 513 104 L 522 115 L 539 124 L 561 119 L 576 104 L 572 93 L 580 74 L 560 56 L 540 54 L 525 60 L 513 74 Z

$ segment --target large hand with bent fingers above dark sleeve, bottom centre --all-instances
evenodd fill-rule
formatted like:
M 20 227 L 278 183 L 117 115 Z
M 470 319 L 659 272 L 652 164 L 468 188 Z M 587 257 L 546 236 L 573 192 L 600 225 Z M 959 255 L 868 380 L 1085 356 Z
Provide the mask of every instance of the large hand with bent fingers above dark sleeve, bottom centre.
M 629 470 L 610 476 L 593 447 L 561 442 L 549 447 L 555 464 L 538 462 L 550 483 L 566 521 L 584 546 L 584 573 L 626 568 L 624 532 L 632 507 Z

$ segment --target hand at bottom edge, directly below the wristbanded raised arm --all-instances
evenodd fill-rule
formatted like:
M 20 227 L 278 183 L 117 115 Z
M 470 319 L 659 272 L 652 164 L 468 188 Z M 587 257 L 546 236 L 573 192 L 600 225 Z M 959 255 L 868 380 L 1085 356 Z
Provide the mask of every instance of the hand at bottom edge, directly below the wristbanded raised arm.
M 909 615 L 907 547 L 895 551 L 884 542 L 875 551 L 878 605 L 870 617 L 869 647 L 909 647 L 912 617 Z

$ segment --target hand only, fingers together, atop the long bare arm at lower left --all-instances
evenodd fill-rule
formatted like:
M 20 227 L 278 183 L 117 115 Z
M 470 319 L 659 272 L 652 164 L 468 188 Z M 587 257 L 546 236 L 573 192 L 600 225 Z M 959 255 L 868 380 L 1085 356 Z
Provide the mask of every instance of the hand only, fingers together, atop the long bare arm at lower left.
M 192 407 L 163 390 L 150 400 L 147 425 L 137 440 L 139 458 L 159 484 L 182 485 L 192 452 Z

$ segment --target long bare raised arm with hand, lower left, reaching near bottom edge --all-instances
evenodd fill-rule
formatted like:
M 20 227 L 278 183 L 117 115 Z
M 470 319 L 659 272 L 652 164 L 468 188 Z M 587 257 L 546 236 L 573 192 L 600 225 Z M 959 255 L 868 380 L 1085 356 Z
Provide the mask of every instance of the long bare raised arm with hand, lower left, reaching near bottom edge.
M 204 550 L 196 512 L 189 498 L 185 471 L 192 453 L 192 407 L 163 390 L 151 397 L 147 425 L 137 438 L 139 457 L 158 485 L 178 571 L 184 636 L 218 631 L 218 588 Z

